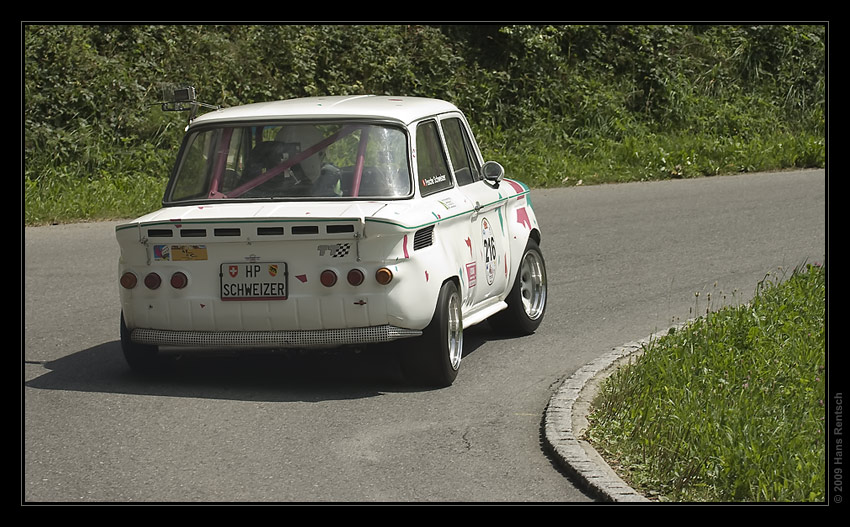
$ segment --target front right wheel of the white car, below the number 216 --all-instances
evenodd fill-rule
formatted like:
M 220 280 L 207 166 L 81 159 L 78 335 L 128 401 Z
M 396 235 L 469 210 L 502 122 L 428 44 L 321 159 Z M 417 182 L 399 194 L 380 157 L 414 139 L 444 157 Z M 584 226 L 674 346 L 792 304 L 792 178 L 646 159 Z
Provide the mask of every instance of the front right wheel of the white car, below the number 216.
M 517 335 L 534 333 L 546 313 L 546 296 L 546 263 L 537 242 L 529 239 L 505 299 L 508 308 L 490 317 L 491 327 Z

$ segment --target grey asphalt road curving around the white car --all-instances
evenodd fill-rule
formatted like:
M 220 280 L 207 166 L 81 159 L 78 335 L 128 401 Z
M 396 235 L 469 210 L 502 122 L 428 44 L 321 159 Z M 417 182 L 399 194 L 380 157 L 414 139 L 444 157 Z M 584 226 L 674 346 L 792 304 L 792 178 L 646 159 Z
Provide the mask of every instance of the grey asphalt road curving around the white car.
M 465 334 L 456 383 L 379 353 L 187 358 L 118 344 L 114 223 L 24 230 L 22 489 L 35 502 L 586 502 L 541 446 L 561 381 L 826 255 L 824 171 L 538 190 L 539 331 Z M 699 298 L 695 293 L 702 293 Z

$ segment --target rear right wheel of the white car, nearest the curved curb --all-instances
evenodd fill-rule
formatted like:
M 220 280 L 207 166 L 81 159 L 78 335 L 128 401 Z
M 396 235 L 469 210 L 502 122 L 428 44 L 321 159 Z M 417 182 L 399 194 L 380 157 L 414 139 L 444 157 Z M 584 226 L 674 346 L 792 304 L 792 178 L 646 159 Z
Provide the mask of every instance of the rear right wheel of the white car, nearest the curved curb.
M 410 381 L 442 388 L 457 378 L 463 355 L 461 304 L 457 285 L 451 280 L 444 283 L 431 323 L 401 357 L 402 371 Z

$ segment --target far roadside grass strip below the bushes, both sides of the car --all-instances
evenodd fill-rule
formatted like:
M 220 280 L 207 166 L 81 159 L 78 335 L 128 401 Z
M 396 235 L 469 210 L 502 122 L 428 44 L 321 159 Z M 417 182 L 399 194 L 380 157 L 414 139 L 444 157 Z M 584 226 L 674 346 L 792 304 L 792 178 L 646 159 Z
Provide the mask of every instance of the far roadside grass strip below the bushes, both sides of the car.
M 822 136 L 799 133 L 742 139 L 641 131 L 612 140 L 541 126 L 477 135 L 486 159 L 537 188 L 823 167 L 825 160 Z M 24 178 L 25 224 L 129 218 L 159 208 L 176 147 L 100 152 L 86 166 Z

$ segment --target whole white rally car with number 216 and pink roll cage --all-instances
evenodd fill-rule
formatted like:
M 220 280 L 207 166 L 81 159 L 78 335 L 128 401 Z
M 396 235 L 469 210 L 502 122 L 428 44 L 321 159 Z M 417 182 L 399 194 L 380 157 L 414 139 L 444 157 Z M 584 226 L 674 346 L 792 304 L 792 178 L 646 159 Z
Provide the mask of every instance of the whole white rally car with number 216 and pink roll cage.
M 116 227 L 131 368 L 184 348 L 395 342 L 446 386 L 463 330 L 529 334 L 546 308 L 529 189 L 464 115 L 413 97 L 318 97 L 192 118 L 163 207 Z M 404 339 L 404 340 L 401 340 Z

